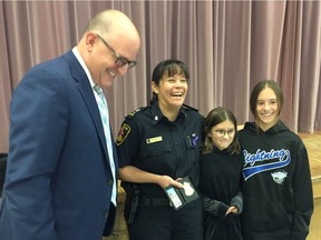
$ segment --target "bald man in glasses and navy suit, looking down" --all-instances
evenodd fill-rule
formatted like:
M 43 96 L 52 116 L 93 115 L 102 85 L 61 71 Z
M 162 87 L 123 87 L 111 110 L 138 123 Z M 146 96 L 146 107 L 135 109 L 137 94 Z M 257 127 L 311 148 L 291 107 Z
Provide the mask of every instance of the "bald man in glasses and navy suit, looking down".
M 103 124 L 108 108 L 98 108 L 96 90 L 135 66 L 139 46 L 133 22 L 106 10 L 89 21 L 77 47 L 21 80 L 11 102 L 1 239 L 111 233 L 118 164 L 108 121 Z

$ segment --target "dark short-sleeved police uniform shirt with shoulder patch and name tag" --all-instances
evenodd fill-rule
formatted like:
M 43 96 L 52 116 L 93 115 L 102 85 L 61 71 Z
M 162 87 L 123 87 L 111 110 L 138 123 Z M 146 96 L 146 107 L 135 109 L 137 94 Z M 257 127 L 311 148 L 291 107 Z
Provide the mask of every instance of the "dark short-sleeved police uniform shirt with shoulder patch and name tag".
M 116 146 L 119 167 L 135 166 L 173 179 L 198 178 L 204 118 L 195 109 L 182 107 L 175 121 L 163 116 L 159 106 L 139 108 L 128 114 L 119 130 Z M 143 196 L 165 197 L 159 186 L 142 184 Z

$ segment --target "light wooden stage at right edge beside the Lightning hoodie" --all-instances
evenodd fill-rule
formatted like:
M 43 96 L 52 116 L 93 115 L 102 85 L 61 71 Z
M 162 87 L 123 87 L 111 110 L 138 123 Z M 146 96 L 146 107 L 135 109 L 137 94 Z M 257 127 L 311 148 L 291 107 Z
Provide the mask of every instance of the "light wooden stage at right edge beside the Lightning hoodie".
M 321 132 L 299 133 L 309 154 L 313 184 L 314 211 L 310 224 L 310 234 L 307 240 L 321 239 Z

